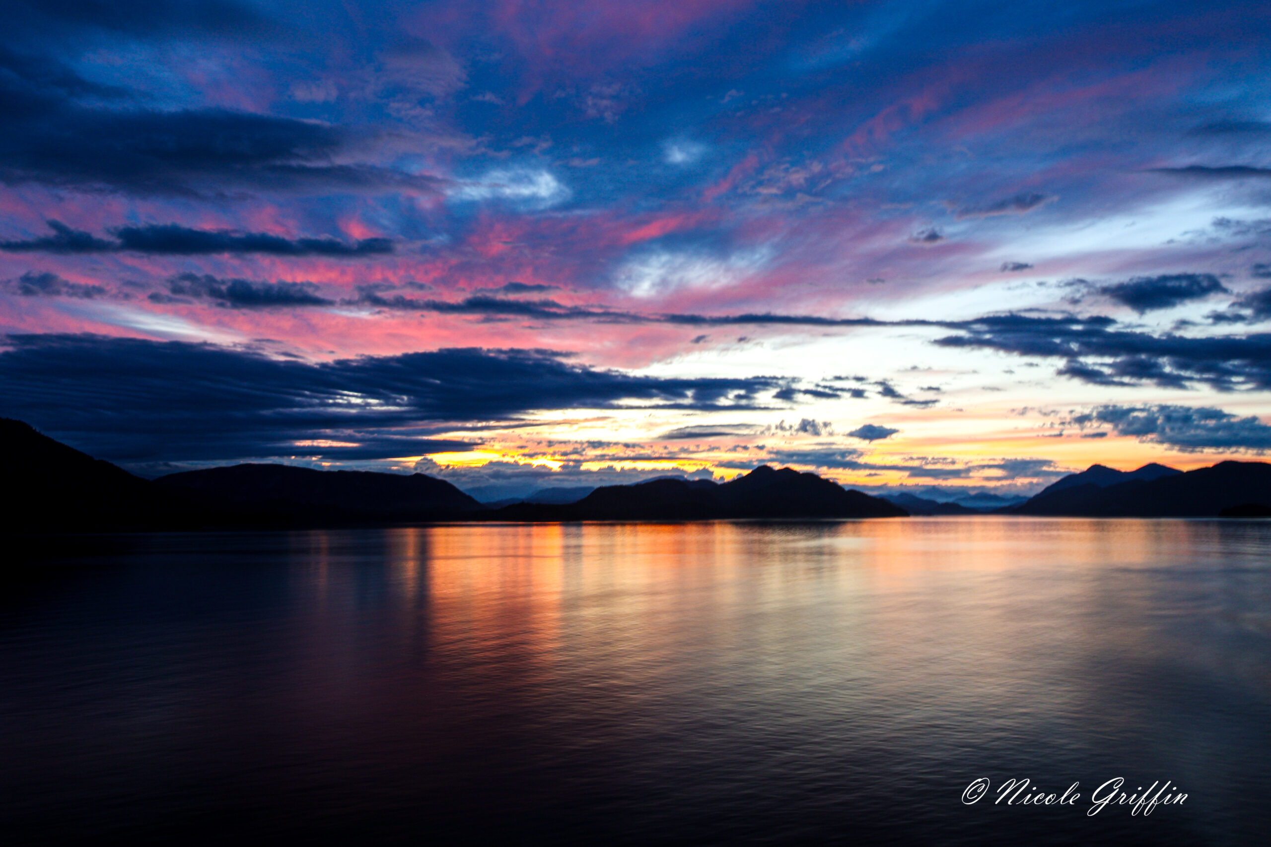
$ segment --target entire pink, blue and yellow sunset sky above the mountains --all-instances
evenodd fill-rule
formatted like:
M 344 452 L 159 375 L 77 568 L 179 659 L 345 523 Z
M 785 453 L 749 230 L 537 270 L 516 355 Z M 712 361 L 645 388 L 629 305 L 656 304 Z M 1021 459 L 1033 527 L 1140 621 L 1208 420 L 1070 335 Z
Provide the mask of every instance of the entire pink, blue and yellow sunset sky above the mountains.
M 1268 71 L 1266 3 L 11 0 L 0 414 L 486 499 L 1256 460 Z

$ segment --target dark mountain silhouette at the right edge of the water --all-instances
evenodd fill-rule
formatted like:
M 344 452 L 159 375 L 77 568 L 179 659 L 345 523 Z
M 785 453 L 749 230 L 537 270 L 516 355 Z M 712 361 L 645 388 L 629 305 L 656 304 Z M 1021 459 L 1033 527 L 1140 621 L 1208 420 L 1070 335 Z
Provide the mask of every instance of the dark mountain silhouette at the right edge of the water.
M 1099 477 L 1106 479 L 1106 475 Z M 1014 507 L 1012 513 L 1182 518 L 1218 517 L 1224 509 L 1253 505 L 1271 507 L 1271 465 L 1266 462 L 1219 462 L 1186 474 L 1157 472 L 1153 479 L 1138 477 L 1103 486 L 1079 483 L 1056 490 L 1052 485 Z

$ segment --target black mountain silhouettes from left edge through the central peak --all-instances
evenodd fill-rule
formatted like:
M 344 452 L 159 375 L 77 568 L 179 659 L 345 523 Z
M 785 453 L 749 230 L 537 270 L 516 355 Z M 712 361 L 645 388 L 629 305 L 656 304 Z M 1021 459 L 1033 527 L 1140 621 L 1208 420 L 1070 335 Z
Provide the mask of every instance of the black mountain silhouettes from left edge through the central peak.
M 433 521 L 693 521 L 707 518 L 901 517 L 886 500 L 815 474 L 759 467 L 732 483 L 661 479 L 577 491 L 574 503 L 489 509 L 423 474 L 234 465 L 145 480 L 0 419 L 6 532 L 323 527 Z M 571 491 L 559 490 L 557 498 Z M 547 499 L 547 498 L 545 498 Z

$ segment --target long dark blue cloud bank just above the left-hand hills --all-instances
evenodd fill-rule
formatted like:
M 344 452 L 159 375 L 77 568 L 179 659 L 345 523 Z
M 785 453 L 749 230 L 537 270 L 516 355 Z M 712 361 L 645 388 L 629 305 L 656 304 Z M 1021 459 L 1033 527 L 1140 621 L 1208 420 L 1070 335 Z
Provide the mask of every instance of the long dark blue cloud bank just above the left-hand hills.
M 118 461 L 418 456 L 454 448 L 428 441 L 441 422 L 616 405 L 768 408 L 782 385 L 773 377 L 632 376 L 543 350 L 308 363 L 186 342 L 10 335 L 0 353 L 0 414 Z

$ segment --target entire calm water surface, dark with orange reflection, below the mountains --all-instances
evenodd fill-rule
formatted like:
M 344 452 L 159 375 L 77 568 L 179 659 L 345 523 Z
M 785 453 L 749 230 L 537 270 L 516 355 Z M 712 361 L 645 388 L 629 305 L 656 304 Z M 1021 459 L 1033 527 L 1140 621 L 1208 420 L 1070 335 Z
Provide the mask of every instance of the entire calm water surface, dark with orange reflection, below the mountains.
M 1271 522 L 121 536 L 0 589 L 9 844 L 1271 838 Z M 1188 797 L 1087 817 L 1118 776 Z

